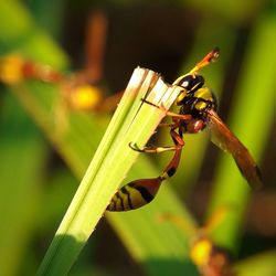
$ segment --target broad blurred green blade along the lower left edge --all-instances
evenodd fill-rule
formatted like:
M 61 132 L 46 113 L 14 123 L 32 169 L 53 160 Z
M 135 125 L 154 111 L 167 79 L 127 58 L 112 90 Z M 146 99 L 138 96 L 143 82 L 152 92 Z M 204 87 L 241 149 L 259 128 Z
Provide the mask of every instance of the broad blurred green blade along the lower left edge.
M 1 99 L 0 275 L 19 275 L 36 230 L 45 145 L 15 98 Z

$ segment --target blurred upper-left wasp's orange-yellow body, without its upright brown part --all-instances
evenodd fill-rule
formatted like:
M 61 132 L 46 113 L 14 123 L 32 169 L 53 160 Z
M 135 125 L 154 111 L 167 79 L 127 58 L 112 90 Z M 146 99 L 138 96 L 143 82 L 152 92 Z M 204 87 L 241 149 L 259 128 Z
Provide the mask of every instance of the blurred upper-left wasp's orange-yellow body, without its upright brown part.
M 86 72 L 68 75 L 15 53 L 0 57 L 0 81 L 7 85 L 18 85 L 25 81 L 54 84 L 59 86 L 66 107 L 73 110 L 97 110 L 105 107 L 107 102 L 100 88 L 89 83 Z

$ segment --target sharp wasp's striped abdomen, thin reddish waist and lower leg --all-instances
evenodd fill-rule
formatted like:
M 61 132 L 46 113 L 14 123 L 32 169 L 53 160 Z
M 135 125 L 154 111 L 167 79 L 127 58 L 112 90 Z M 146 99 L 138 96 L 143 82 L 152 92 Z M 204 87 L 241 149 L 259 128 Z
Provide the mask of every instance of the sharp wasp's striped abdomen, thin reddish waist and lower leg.
M 138 150 L 140 152 L 156 152 L 156 153 L 173 150 L 174 155 L 169 164 L 166 167 L 166 169 L 159 177 L 152 179 L 138 179 L 131 181 L 130 183 L 119 189 L 118 192 L 116 192 L 115 195 L 113 197 L 109 205 L 107 206 L 108 211 L 117 211 L 117 212 L 129 211 L 148 204 L 155 199 L 162 181 L 174 174 L 179 166 L 184 141 L 182 137 L 173 129 L 170 131 L 170 135 L 174 142 L 174 146 L 172 147 L 167 147 L 167 148 L 152 147 L 144 149 L 134 148 L 135 150 Z

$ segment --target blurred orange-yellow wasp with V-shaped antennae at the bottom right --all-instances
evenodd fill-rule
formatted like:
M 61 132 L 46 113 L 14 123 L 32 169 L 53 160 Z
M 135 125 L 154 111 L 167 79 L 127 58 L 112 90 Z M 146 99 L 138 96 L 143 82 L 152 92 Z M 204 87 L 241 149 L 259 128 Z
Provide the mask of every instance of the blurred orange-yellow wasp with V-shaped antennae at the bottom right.
M 189 256 L 202 276 L 235 276 L 231 264 L 231 254 L 217 246 L 211 238 L 211 232 L 223 221 L 229 208 L 219 208 L 205 225 L 197 229 L 181 216 L 171 213 L 161 214 L 161 222 L 171 222 L 188 234 Z

